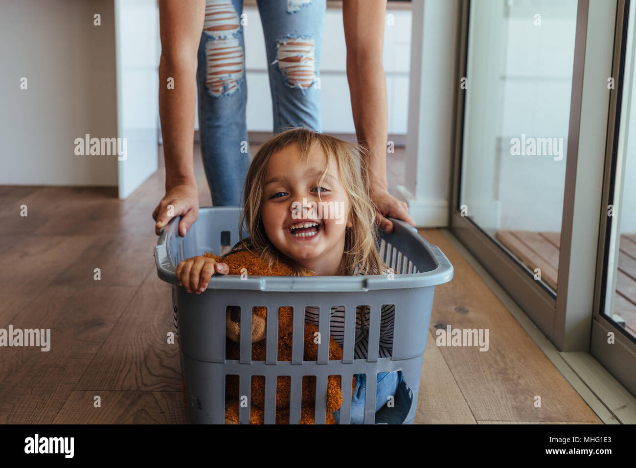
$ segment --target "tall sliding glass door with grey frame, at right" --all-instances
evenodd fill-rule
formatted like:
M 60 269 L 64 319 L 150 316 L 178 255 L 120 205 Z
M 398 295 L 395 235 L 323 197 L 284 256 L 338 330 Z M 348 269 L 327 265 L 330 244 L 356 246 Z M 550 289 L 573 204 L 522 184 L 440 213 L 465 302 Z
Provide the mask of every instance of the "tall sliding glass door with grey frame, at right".
M 462 2 L 450 224 L 559 350 L 636 394 L 634 3 Z

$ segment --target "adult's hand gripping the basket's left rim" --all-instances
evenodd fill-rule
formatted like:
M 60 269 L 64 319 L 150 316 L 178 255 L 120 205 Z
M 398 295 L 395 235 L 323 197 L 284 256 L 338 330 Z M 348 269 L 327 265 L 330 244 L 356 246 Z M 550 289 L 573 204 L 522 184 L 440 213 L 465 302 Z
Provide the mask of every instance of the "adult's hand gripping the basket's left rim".
M 172 209 L 169 207 L 172 206 Z M 174 216 L 181 216 L 179 221 L 179 236 L 184 238 L 190 226 L 198 218 L 198 193 L 197 183 L 180 183 L 169 188 L 165 192 L 162 201 L 153 211 L 153 219 L 156 221 L 155 234 L 165 226 Z

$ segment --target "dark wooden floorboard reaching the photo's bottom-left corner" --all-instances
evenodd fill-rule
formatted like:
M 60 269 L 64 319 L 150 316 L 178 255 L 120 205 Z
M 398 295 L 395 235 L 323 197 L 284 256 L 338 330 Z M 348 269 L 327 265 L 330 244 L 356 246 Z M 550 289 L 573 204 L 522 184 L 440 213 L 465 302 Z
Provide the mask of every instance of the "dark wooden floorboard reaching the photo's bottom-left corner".
M 13 320 L 14 328 L 50 329 L 50 350 L 3 348 L 0 421 L 51 423 L 113 329 L 135 287 L 49 286 Z

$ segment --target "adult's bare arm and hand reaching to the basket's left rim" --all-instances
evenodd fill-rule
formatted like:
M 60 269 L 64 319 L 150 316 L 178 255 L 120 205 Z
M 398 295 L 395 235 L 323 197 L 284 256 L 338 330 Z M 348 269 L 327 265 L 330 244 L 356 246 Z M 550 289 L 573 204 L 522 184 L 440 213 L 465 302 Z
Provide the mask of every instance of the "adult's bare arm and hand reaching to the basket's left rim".
M 179 234 L 185 236 L 198 217 L 197 181 L 193 169 L 195 74 L 203 31 L 205 0 L 160 0 L 162 53 L 159 62 L 159 116 L 165 157 L 165 196 L 153 211 L 155 232 L 181 215 Z M 168 80 L 174 87 L 168 87 Z M 173 89 L 174 88 L 174 89 Z M 174 208 L 168 213 L 167 206 Z

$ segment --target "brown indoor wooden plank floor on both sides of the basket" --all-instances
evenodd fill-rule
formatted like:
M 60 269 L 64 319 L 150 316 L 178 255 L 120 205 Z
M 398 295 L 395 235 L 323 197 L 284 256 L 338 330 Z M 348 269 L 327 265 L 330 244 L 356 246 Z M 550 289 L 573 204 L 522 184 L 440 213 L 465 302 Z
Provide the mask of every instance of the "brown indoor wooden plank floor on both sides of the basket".
M 163 183 L 160 170 L 125 201 L 114 188 L 0 187 L 0 328 L 52 331 L 48 352 L 0 350 L 0 423 L 185 422 L 170 288 L 152 253 Z M 416 422 L 599 423 L 443 233 L 420 232 L 455 278 L 436 288 Z M 489 351 L 438 348 L 446 325 L 489 329 Z

